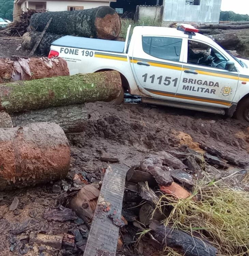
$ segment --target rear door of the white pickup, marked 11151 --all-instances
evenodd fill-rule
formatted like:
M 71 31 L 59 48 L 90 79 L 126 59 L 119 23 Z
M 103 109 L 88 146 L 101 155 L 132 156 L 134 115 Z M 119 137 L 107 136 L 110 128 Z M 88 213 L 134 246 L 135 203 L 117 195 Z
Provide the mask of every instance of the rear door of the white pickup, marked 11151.
M 140 90 L 157 98 L 175 97 L 182 72 L 182 38 L 142 36 L 133 48 L 133 72 Z

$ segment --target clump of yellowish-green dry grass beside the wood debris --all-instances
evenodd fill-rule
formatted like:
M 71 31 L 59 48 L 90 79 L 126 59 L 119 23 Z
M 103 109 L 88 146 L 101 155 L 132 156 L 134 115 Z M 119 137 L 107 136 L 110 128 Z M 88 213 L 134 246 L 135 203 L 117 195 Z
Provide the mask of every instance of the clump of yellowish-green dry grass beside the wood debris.
M 193 196 L 184 200 L 162 195 L 157 208 L 162 210 L 165 206 L 172 208 L 163 221 L 165 226 L 208 240 L 218 249 L 218 255 L 249 255 L 248 192 L 214 183 L 198 184 Z M 169 248 L 166 250 L 168 256 L 179 255 Z

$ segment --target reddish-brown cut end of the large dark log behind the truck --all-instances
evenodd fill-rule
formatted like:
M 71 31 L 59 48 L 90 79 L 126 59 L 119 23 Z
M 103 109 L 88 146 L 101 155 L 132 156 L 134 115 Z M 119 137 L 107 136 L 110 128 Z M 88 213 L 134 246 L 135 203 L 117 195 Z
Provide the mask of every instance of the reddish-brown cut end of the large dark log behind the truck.
M 121 22 L 118 14 L 107 13 L 103 16 L 103 10 L 100 9 L 95 20 L 97 38 L 115 39 L 121 30 Z

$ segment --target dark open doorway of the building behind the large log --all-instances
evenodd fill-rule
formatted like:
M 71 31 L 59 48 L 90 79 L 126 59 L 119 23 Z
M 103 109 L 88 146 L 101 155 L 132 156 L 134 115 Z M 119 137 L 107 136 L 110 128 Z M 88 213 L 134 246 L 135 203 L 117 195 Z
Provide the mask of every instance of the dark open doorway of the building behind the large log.
M 111 7 L 116 9 L 122 17 L 134 18 L 137 5 L 156 5 L 157 0 L 117 0 L 117 2 L 111 2 Z M 163 0 L 159 0 L 159 5 L 163 4 Z

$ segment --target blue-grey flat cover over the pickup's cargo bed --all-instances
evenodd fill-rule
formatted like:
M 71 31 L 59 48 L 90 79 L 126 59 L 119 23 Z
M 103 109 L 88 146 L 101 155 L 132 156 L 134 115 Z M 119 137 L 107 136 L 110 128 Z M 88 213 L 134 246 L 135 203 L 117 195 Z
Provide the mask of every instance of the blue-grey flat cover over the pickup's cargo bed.
M 104 39 L 86 38 L 86 37 L 73 37 L 64 36 L 55 40 L 52 45 L 70 47 L 70 48 L 80 48 L 87 50 L 98 50 L 105 52 L 124 52 L 125 42 L 112 41 Z

